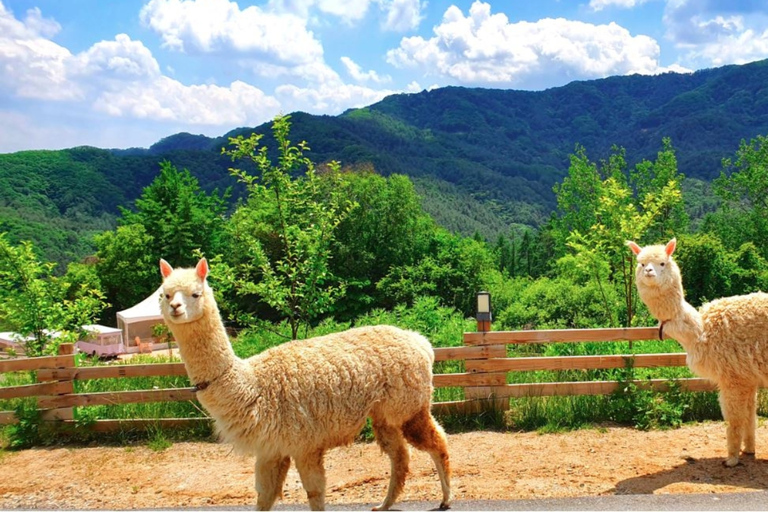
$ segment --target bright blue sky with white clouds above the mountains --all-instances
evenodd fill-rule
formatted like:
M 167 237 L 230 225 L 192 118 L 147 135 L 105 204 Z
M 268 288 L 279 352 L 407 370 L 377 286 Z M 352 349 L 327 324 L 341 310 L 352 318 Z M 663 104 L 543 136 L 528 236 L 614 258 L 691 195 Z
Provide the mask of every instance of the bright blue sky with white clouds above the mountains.
M 0 152 L 764 58 L 766 0 L 0 0 Z

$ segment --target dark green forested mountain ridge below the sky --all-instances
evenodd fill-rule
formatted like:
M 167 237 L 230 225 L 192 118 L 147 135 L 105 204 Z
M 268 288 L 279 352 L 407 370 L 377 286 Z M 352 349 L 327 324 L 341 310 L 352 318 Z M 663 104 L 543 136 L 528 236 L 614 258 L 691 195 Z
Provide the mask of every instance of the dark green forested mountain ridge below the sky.
M 552 186 L 576 144 L 590 158 L 613 145 L 633 164 L 670 137 L 679 170 L 709 181 L 739 141 L 768 134 L 768 61 L 742 66 L 573 82 L 539 92 L 447 87 L 400 94 L 339 116 L 291 116 L 291 139 L 315 162 L 365 164 L 415 178 L 438 223 L 491 237 L 513 223 L 537 225 L 553 211 Z M 228 137 L 187 133 L 142 149 L 74 148 L 0 155 L 0 232 L 31 239 L 50 260 L 88 251 L 85 238 L 114 222 L 159 170 L 188 168 L 205 190 L 234 184 L 221 155 Z M 234 197 L 237 197 L 237 189 Z

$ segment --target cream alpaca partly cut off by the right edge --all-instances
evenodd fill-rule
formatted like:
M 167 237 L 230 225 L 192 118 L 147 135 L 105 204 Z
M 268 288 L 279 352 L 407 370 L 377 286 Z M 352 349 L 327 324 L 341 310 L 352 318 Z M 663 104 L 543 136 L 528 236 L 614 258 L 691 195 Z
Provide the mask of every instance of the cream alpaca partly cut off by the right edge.
M 768 294 L 726 297 L 699 311 L 685 301 L 680 269 L 672 259 L 677 242 L 640 248 L 635 277 L 640 298 L 661 322 L 659 334 L 677 340 L 695 374 L 720 390 L 728 426 L 726 466 L 739 463 L 739 450 L 755 453 L 757 389 L 768 384 Z

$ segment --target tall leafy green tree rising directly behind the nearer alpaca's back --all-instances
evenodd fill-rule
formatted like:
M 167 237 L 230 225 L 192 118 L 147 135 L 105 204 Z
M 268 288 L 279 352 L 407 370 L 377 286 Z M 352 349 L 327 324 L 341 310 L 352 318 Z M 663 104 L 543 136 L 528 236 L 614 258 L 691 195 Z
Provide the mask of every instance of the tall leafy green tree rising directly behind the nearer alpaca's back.
M 231 219 L 236 277 L 228 286 L 241 298 L 256 296 L 268 304 L 289 322 L 296 339 L 302 325 L 329 312 L 344 294 L 345 283 L 331 271 L 331 247 L 354 203 L 346 198 L 337 163 L 329 164 L 321 180 L 304 156 L 307 144 L 291 144 L 289 119 L 277 117 L 272 125 L 277 165 L 255 133 L 230 138 L 232 149 L 222 152 L 233 161 L 254 162 L 259 172 L 230 169 L 247 186 L 248 199 Z

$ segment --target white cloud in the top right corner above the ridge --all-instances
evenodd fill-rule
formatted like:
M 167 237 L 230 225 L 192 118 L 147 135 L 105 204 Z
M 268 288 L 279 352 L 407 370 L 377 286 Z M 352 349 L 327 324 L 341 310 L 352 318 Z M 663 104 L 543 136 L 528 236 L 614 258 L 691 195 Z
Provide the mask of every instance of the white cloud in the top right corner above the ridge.
M 768 13 L 762 2 L 669 0 L 667 38 L 691 66 L 744 64 L 768 57 Z

